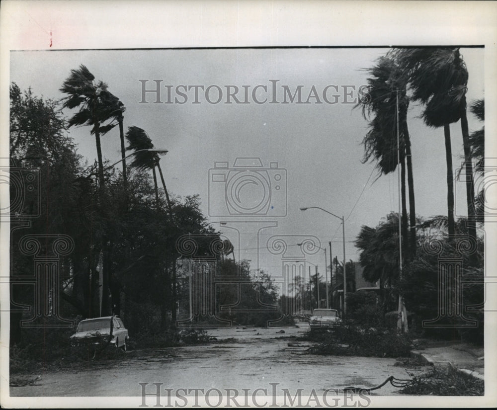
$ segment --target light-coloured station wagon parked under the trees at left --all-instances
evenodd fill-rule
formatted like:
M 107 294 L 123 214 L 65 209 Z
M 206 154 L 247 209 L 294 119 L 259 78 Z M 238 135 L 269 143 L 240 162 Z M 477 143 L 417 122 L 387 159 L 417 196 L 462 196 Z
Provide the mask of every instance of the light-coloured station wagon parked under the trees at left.
M 109 342 L 110 338 L 110 342 Z M 129 340 L 128 329 L 117 316 L 106 316 L 82 320 L 76 333 L 71 336 L 73 343 L 105 344 L 110 343 L 115 348 L 121 347 L 126 351 Z

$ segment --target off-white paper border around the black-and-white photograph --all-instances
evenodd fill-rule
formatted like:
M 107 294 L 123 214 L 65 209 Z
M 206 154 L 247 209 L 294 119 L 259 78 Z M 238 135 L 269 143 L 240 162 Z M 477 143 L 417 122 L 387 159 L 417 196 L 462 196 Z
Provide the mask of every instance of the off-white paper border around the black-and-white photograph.
M 484 45 L 487 112 L 496 110 L 497 3 L 485 1 L 18 1 L 0 6 L 0 158 L 8 157 L 11 50 L 241 46 Z M 51 36 L 50 33 L 51 32 Z M 50 46 L 50 40 L 52 44 Z M 487 115 L 486 154 L 496 155 L 496 116 Z M 489 137 L 491 136 L 491 137 Z M 8 189 L 0 187 L 1 201 Z M 496 264 L 496 229 L 486 225 L 486 272 Z M 0 276 L 9 275 L 9 224 L 1 223 Z M 492 295 L 495 285 L 489 285 Z M 9 301 L 0 288 L 1 308 Z M 486 310 L 497 311 L 488 297 Z M 137 397 L 8 396 L 9 315 L 1 312 L 3 407 L 130 407 Z M 485 397 L 372 397 L 372 407 L 495 407 L 497 320 L 486 312 Z

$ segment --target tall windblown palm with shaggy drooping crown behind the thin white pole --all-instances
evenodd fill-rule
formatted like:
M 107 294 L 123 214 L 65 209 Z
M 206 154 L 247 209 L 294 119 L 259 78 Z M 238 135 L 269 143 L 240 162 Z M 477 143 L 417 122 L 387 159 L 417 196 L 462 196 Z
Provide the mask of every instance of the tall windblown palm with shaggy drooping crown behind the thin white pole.
M 377 162 L 380 174 L 394 172 L 398 162 L 401 165 L 402 195 L 402 231 L 405 248 L 414 256 L 416 251 L 414 177 L 411 158 L 411 140 L 407 125 L 409 98 L 407 80 L 395 60 L 389 56 L 380 57 L 376 65 L 368 70 L 369 98 L 359 101 L 362 114 L 369 120 L 369 131 L 363 139 L 365 155 L 363 162 L 373 159 Z M 398 121 L 397 121 L 398 116 Z M 397 127 L 399 128 L 399 153 L 397 154 Z M 409 185 L 410 235 L 408 241 L 408 223 L 406 206 L 406 161 Z

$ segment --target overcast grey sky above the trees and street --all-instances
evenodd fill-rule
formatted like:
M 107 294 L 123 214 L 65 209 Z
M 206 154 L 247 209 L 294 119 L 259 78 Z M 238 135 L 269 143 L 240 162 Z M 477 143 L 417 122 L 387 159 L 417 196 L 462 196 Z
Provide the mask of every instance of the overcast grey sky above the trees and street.
M 161 164 L 167 187 L 173 195 L 200 194 L 202 211 L 205 215 L 213 215 L 209 221 L 255 219 L 277 222 L 277 227 L 259 232 L 258 242 L 254 224 L 239 224 L 245 228 L 241 228 L 238 246 L 238 238 L 233 235 L 235 231 L 221 227 L 235 243 L 237 258 L 248 258 L 255 263 L 254 248 L 257 247 L 259 267 L 277 274 L 278 269 L 281 271 L 281 255 L 269 257 L 265 249 L 267 240 L 273 235 L 285 235 L 287 245 L 294 248 L 302 242 L 298 236 L 303 235 L 318 237 L 322 247 L 328 248 L 328 242 L 332 241 L 333 255 L 338 253 L 340 260 L 343 257 L 340 221 L 319 210 L 301 212 L 300 207 L 319 206 L 340 217 L 345 216 L 346 256 L 353 260 L 358 259 L 358 252 L 352 241 L 361 225 L 376 226 L 390 211 L 398 210 L 397 174 L 381 176 L 375 181 L 378 175 L 373 170 L 375 164 L 361 164 L 364 153 L 361 141 L 367 131 L 367 122 L 360 109 L 353 109 L 358 88 L 367 83 L 367 73 L 362 69 L 371 67 L 386 51 L 379 48 L 18 51 L 11 52 L 10 80 L 21 89 L 30 86 L 35 95 L 58 99 L 63 97 L 59 88 L 70 70 L 84 64 L 96 80 L 107 82 L 109 90 L 125 104 L 125 130 L 132 125 L 141 127 L 156 147 L 169 150 L 161 157 Z M 465 48 L 461 51 L 469 71 L 468 101 L 484 98 L 484 50 Z M 166 85 L 171 85 L 173 103 L 155 104 L 153 93 L 146 94 L 148 104 L 140 103 L 140 80 L 148 81 L 147 89 L 155 88 L 153 80 L 162 80 L 163 102 L 167 100 Z M 174 103 L 174 97 L 178 102 L 184 101 L 175 93 L 176 86 L 182 84 L 203 85 L 204 88 L 217 85 L 223 92 L 223 99 L 217 104 L 209 103 L 209 99 L 217 99 L 217 88 L 211 87 L 207 97 L 197 88 L 198 104 L 193 103 L 194 89 L 186 92 L 188 99 L 184 104 Z M 276 100 L 280 103 L 269 103 L 272 84 L 275 84 Z M 249 103 L 239 104 L 231 99 L 234 103 L 226 104 L 226 85 L 237 86 L 238 100 L 247 99 Z M 267 91 L 258 87 L 252 95 L 257 85 L 266 86 Z M 314 86 L 318 98 L 310 98 L 309 104 L 282 104 L 283 85 L 292 92 L 297 85 L 302 85 L 303 101 Z M 332 87 L 327 89 L 326 96 L 336 103 L 323 100 L 323 90 L 328 85 Z M 345 95 L 344 86 L 350 86 L 345 90 L 348 95 Z M 247 98 L 244 90 L 248 91 Z M 184 92 L 184 89 L 180 91 Z M 267 101 L 257 104 L 254 96 L 258 101 L 265 98 Z M 318 99 L 323 103 L 317 103 Z M 64 111 L 66 117 L 73 113 Z M 443 129 L 425 127 L 417 118 L 419 113 L 419 107 L 412 104 L 409 127 L 416 213 L 430 217 L 447 212 Z M 470 132 L 481 128 L 470 113 L 468 120 Z M 451 133 L 456 167 L 463 156 L 459 123 L 451 125 Z M 78 152 L 92 163 L 96 148 L 89 128 L 72 128 L 70 134 L 78 145 Z M 102 137 L 102 150 L 105 159 L 111 162 L 120 159 L 118 127 Z M 270 216 L 218 216 L 227 212 L 223 189 L 230 177 L 225 183 L 211 184 L 209 210 L 209 170 L 215 162 L 228 162 L 231 168 L 238 157 L 260 158 L 263 168 L 269 168 L 261 175 L 270 179 L 276 172 L 270 168 L 270 163 L 277 163 L 278 169 L 286 170 L 286 192 L 284 184 L 276 191 L 274 180 L 267 185 L 271 192 L 269 206 L 273 207 L 267 211 Z M 228 175 L 228 171 L 215 173 Z M 285 179 L 284 171 L 279 174 Z M 223 188 L 219 190 L 219 186 Z M 257 196 L 261 195 L 260 189 L 260 185 L 241 188 L 241 201 L 249 204 L 251 195 L 256 202 L 261 201 Z M 456 191 L 456 210 L 464 209 L 464 192 L 459 195 L 460 192 Z M 281 214 L 286 216 L 279 217 Z M 218 228 L 219 224 L 214 226 Z M 323 251 L 308 260 L 320 265 L 320 272 L 324 272 Z M 252 268 L 255 267 L 252 264 Z

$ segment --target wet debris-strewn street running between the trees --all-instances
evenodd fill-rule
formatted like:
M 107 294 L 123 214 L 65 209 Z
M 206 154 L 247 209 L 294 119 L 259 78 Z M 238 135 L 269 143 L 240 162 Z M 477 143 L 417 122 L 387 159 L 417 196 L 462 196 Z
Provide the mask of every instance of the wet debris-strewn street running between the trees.
M 410 378 L 405 368 L 394 366 L 395 359 L 391 358 L 307 354 L 309 343 L 295 341 L 306 326 L 213 329 L 209 333 L 218 340 L 210 344 L 129 350 L 122 355 L 122 360 L 97 361 L 94 366 L 80 369 L 22 375 L 26 380 L 38 375 L 41 377 L 33 385 L 11 387 L 10 395 L 138 396 L 136 403 L 129 403 L 129 406 L 135 407 L 141 404 L 143 389 L 146 393 L 154 393 L 156 386 L 162 396 L 170 395 L 168 392 L 184 396 L 201 392 L 192 389 L 203 389 L 204 392 L 209 389 L 214 389 L 214 392 L 215 389 L 222 392 L 235 389 L 241 395 L 242 389 L 249 389 L 246 390 L 248 394 L 256 389 L 266 389 L 269 396 L 275 391 L 273 389 L 276 389 L 278 396 L 283 394 L 283 389 L 287 389 L 292 396 L 299 389 L 306 396 L 312 395 L 313 389 L 318 395 L 331 389 L 328 392 L 332 396 L 333 392 L 339 392 L 345 386 L 377 386 L 391 375 L 400 379 Z M 390 384 L 374 393 L 380 396 L 399 394 L 398 389 Z M 256 393 L 258 396 L 261 394 L 265 394 L 264 390 Z M 151 400 L 153 406 L 155 399 L 147 400 Z

